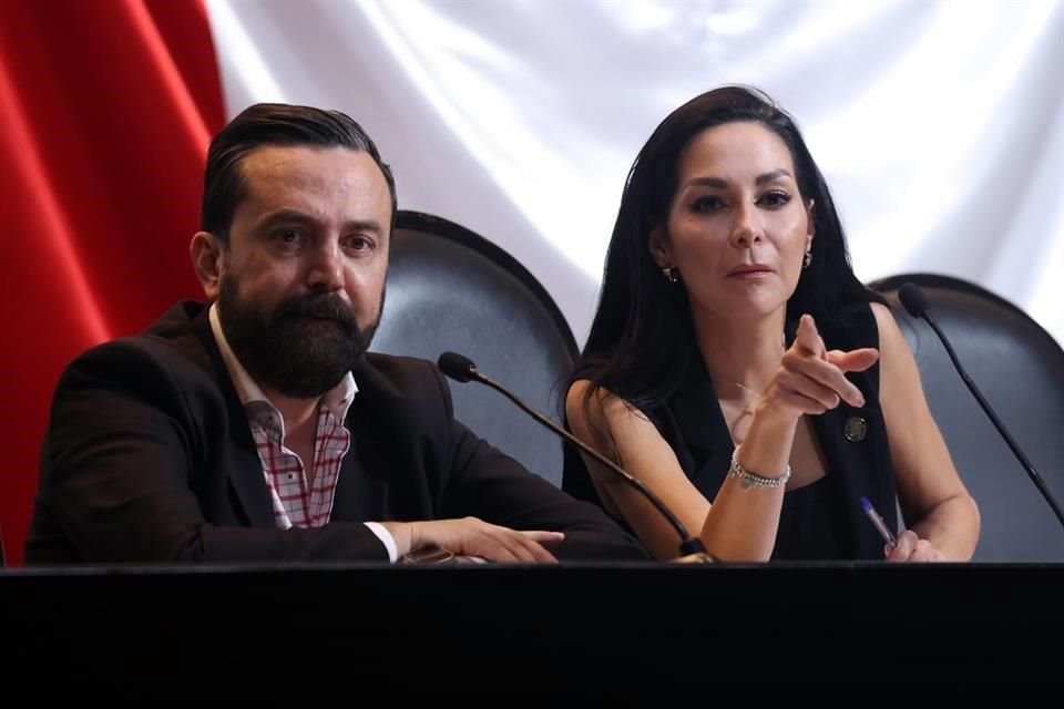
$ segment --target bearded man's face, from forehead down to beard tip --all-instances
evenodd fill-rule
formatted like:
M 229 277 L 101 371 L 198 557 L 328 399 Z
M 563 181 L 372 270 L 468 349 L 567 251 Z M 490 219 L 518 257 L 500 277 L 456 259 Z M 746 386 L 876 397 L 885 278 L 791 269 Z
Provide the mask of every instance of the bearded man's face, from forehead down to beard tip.
M 242 167 L 246 197 L 219 256 L 223 330 L 259 386 L 317 397 L 380 320 L 388 184 L 368 154 L 346 148 L 260 147 Z

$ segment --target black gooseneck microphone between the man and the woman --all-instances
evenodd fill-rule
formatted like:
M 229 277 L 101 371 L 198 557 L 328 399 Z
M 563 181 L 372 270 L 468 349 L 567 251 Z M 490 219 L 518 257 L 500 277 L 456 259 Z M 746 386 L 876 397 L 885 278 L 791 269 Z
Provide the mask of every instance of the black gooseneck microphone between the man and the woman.
M 525 413 L 528 413 L 530 417 L 535 419 L 538 422 L 540 422 L 543 427 L 545 427 L 548 430 L 553 432 L 555 435 L 560 435 L 561 438 L 565 439 L 566 441 L 569 441 L 570 443 L 572 443 L 573 445 L 582 450 L 584 453 L 587 453 L 587 455 L 591 455 L 593 459 L 595 459 L 596 461 L 605 465 L 625 483 L 627 483 L 628 485 L 637 490 L 640 494 L 646 497 L 651 502 L 651 504 L 654 505 L 654 507 L 662 514 L 662 516 L 664 516 L 665 520 L 668 521 L 669 525 L 672 525 L 672 527 L 676 530 L 676 534 L 677 536 L 679 536 L 679 540 L 681 540 L 679 552 L 682 555 L 681 558 L 677 559 L 678 562 L 706 564 L 715 561 L 712 556 L 709 556 L 706 553 L 706 547 L 703 545 L 702 540 L 699 540 L 698 537 L 690 536 L 687 533 L 687 528 L 684 526 L 684 524 L 676 517 L 675 514 L 673 514 L 673 512 L 667 506 L 665 506 L 665 503 L 662 502 L 662 500 L 657 495 L 651 492 L 651 490 L 645 484 L 643 484 L 643 481 L 636 477 L 633 477 L 631 473 L 628 473 L 627 471 L 622 469 L 620 465 L 617 465 L 616 463 L 607 459 L 605 455 L 602 455 L 601 453 L 598 453 L 598 451 L 594 450 L 593 448 L 591 448 L 590 445 L 587 445 L 586 443 L 577 439 L 575 435 L 566 431 L 565 429 L 561 428 L 560 425 L 557 425 L 556 423 L 554 423 L 553 421 L 551 421 L 550 419 L 548 419 L 546 417 L 538 412 L 536 410 L 532 409 L 529 404 L 521 401 L 516 395 L 514 395 L 509 389 L 507 389 L 502 384 L 499 384 L 498 382 L 494 382 L 488 377 L 481 374 L 479 371 L 477 371 L 477 366 L 473 364 L 472 360 L 470 360 L 468 357 L 463 357 L 458 352 L 443 352 L 442 354 L 440 354 L 439 360 L 437 360 L 437 366 L 440 368 L 440 371 L 442 371 L 444 374 L 447 374 L 454 381 L 462 382 L 462 383 L 468 381 L 477 381 L 477 382 L 480 382 L 481 384 L 487 384 L 492 389 L 494 389 L 495 391 L 502 393 L 504 397 L 510 399 L 510 401 L 518 404 L 518 407 L 520 407 Z

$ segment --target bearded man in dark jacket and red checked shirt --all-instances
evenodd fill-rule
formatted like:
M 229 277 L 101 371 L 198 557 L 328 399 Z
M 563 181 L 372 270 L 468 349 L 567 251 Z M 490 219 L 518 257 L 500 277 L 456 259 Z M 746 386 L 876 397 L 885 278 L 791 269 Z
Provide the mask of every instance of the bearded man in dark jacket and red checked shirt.
M 64 372 L 27 562 L 644 558 L 456 421 L 431 363 L 366 352 L 396 205 L 339 112 L 229 123 L 192 239 L 208 304 Z

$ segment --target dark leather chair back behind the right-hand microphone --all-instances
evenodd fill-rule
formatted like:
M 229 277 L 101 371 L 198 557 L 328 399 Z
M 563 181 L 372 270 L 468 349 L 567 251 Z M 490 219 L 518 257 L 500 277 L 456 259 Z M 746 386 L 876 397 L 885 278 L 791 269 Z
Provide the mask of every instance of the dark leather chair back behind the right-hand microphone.
M 972 381 L 1064 504 L 1064 351 L 1020 308 L 965 280 L 903 274 L 869 284 L 896 307 L 939 428 L 979 504 L 974 561 L 1064 561 L 1064 527 L 953 368 L 934 331 L 898 300 L 919 286 Z

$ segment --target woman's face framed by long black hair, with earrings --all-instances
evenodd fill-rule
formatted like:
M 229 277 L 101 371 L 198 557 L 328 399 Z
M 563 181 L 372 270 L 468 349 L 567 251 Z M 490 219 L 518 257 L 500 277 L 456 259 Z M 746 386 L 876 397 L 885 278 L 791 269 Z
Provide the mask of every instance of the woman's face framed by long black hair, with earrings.
M 705 315 L 769 315 L 794 294 L 812 230 L 787 145 L 757 123 L 727 123 L 681 154 L 666 228 L 654 232 L 651 251 L 679 271 Z

